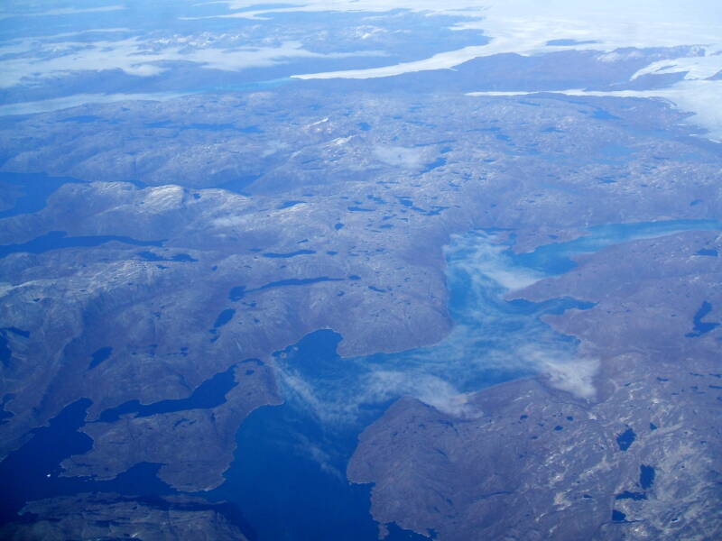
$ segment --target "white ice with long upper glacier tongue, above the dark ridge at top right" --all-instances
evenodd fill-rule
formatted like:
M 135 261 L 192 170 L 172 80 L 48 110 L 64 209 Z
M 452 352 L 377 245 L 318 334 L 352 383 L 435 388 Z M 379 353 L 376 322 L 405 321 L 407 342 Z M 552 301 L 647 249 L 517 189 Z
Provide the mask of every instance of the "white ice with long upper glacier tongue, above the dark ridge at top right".
M 227 2 L 230 9 L 248 9 L 255 3 L 244 0 Z M 630 5 L 622 0 L 603 4 L 574 0 L 537 2 L 519 0 L 449 0 L 412 2 L 409 0 L 309 0 L 301 5 L 228 14 L 237 17 L 260 17 L 281 12 L 353 11 L 377 12 L 394 8 L 429 14 L 463 15 L 464 23 L 455 30 L 479 30 L 491 41 L 483 46 L 450 50 L 428 59 L 404 62 L 374 69 L 350 69 L 337 72 L 299 74 L 299 78 L 379 78 L 427 69 L 449 69 L 473 58 L 514 52 L 522 55 L 562 49 L 606 50 L 625 47 L 673 47 L 677 45 L 713 45 L 720 43 L 718 28 L 722 16 L 714 2 L 704 0 L 695 5 L 680 5 L 673 0 L 639 2 Z M 574 40 L 573 46 L 549 45 L 551 40 Z M 590 42 L 582 42 L 590 41 Z

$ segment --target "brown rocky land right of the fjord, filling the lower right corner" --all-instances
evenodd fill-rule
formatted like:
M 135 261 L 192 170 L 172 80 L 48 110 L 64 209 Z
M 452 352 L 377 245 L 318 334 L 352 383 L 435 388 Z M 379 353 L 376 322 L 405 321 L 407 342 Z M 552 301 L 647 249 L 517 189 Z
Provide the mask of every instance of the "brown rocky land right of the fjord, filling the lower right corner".
M 375 518 L 440 539 L 717 536 L 719 248 L 717 233 L 618 244 L 515 291 L 594 302 L 546 317 L 587 361 L 481 391 L 465 417 L 396 402 L 348 466 L 375 483 Z

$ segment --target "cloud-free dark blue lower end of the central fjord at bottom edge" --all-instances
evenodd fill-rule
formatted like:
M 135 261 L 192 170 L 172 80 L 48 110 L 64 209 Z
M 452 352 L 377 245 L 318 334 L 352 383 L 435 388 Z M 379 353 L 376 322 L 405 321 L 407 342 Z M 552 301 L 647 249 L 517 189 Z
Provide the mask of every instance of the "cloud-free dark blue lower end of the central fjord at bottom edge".
M 289 406 L 252 414 L 236 438 L 239 453 L 227 484 L 211 496 L 243 509 L 258 539 L 375 539 L 368 487 L 349 487 L 323 470 L 328 464 L 292 451 L 304 442 L 289 426 L 302 424 L 304 434 L 322 437 L 305 421 Z

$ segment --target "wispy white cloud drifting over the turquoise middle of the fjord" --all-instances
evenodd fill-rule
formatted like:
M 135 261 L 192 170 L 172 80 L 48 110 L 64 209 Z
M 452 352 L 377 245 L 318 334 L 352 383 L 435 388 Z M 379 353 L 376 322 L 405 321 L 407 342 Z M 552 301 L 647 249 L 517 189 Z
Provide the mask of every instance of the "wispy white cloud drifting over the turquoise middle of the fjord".
M 482 415 L 475 391 L 506 377 L 542 374 L 553 387 L 591 399 L 597 362 L 578 358 L 573 344 L 551 327 L 504 301 L 509 287 L 543 278 L 516 267 L 493 236 L 455 236 L 447 248 L 449 287 L 463 290 L 454 307 L 455 326 L 447 339 L 430 347 L 388 355 L 342 359 L 343 370 L 319 379 L 302 363 L 278 358 L 284 395 L 324 426 L 349 425 L 369 405 L 407 396 L 447 415 Z M 501 280 L 499 280 L 501 277 Z

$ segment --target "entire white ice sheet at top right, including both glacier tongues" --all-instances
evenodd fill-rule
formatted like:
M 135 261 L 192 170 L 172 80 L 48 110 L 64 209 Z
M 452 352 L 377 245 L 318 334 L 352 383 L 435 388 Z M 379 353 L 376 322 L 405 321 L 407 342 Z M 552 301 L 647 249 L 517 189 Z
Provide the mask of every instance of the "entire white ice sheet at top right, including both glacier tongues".
M 251 2 L 230 0 L 231 9 L 248 8 Z M 500 53 L 524 56 L 556 50 L 599 50 L 599 60 L 616 62 L 628 60 L 639 50 L 619 51 L 625 48 L 653 48 L 698 45 L 699 56 L 655 61 L 640 69 L 633 78 L 645 74 L 685 72 L 689 79 L 671 87 L 653 91 L 618 91 L 604 94 L 569 90 L 565 94 L 587 96 L 662 97 L 685 111 L 694 113 L 690 121 L 708 129 L 710 137 L 722 138 L 722 86 L 720 81 L 705 81 L 722 70 L 722 10 L 717 2 L 699 0 L 680 3 L 675 0 L 656 0 L 629 3 L 625 0 L 607 0 L 604 3 L 576 0 L 449 0 L 412 2 L 393 0 L 308 0 L 302 5 L 279 8 L 291 11 L 378 11 L 404 8 L 430 13 L 464 14 L 468 20 L 458 23 L 456 30 L 483 31 L 491 41 L 486 45 L 470 46 L 435 54 L 427 59 L 403 62 L 373 69 L 347 69 L 332 72 L 298 74 L 293 77 L 313 78 L 384 78 L 414 71 L 453 69 L 474 58 Z M 276 11 L 258 10 L 253 16 Z M 550 45 L 549 41 L 575 41 L 570 45 Z M 486 96 L 509 96 L 515 92 L 487 92 Z

